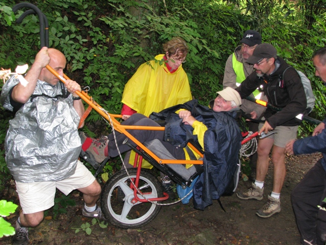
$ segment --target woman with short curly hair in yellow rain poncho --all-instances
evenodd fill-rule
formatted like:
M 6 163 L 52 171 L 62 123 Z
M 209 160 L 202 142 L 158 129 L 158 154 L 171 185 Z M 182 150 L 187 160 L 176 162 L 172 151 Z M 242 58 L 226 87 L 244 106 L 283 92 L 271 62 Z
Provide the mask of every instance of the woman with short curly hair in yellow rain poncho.
M 171 106 L 192 100 L 187 75 L 182 63 L 188 53 L 186 42 L 175 37 L 163 44 L 164 55 L 142 64 L 125 85 L 122 94 L 122 119 L 134 113 L 149 116 Z M 134 152 L 129 163 L 133 164 Z M 147 162 L 143 167 L 151 168 Z

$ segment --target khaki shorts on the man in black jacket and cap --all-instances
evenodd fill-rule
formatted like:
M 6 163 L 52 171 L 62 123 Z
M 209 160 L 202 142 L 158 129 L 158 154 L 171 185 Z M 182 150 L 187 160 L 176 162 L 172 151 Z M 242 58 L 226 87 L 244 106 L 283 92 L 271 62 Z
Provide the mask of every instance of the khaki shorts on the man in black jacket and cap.
M 264 124 L 260 123 L 258 130 L 263 127 Z M 274 139 L 274 145 L 285 148 L 286 143 L 291 139 L 296 139 L 296 133 L 299 126 L 277 126 L 273 131 L 276 134 L 268 136 L 269 139 Z

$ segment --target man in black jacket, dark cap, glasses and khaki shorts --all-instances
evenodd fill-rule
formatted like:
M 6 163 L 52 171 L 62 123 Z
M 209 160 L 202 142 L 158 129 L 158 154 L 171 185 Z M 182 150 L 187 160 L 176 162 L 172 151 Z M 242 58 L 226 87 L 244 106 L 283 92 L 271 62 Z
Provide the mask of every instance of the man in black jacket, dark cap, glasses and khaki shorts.
M 285 145 L 296 138 L 300 121 L 295 116 L 303 113 L 307 108 L 307 99 L 300 76 L 293 67 L 284 70 L 289 65 L 277 56 L 276 49 L 269 43 L 262 43 L 247 60 L 254 65 L 253 72 L 236 90 L 241 98 L 246 98 L 257 87 L 260 87 L 267 96 L 268 103 L 281 108 L 281 111 L 266 109 L 263 116 L 264 124 L 259 124 L 259 134 L 268 131 L 276 132 L 258 141 L 258 159 L 256 180 L 247 191 L 237 192 L 237 197 L 243 200 L 263 199 L 264 180 L 268 170 L 269 152 L 274 165 L 273 191 L 268 195 L 267 202 L 256 214 L 260 217 L 270 217 L 281 211 L 280 192 L 285 179 Z

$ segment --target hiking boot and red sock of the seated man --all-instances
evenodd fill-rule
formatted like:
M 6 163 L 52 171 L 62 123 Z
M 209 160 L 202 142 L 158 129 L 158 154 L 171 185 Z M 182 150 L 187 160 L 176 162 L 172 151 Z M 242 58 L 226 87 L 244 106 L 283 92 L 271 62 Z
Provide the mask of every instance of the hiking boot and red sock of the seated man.
M 82 140 L 82 154 L 86 155 L 83 158 L 90 163 L 101 163 L 108 156 L 107 143 L 108 138 L 102 136 L 99 139 L 92 139 L 87 137 L 84 132 L 80 132 L 80 139 Z M 93 164 L 92 164 L 93 165 Z

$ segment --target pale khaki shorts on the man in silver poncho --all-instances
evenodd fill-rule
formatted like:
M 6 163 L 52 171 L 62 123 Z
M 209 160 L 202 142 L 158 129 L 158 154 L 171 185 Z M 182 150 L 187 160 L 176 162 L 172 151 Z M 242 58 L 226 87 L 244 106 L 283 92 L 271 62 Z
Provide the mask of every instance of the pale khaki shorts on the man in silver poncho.
M 74 189 L 91 185 L 94 180 L 95 177 L 92 173 L 78 160 L 75 173 L 67 179 L 32 183 L 16 181 L 22 212 L 25 214 L 36 213 L 49 209 L 55 205 L 56 188 L 68 195 Z

